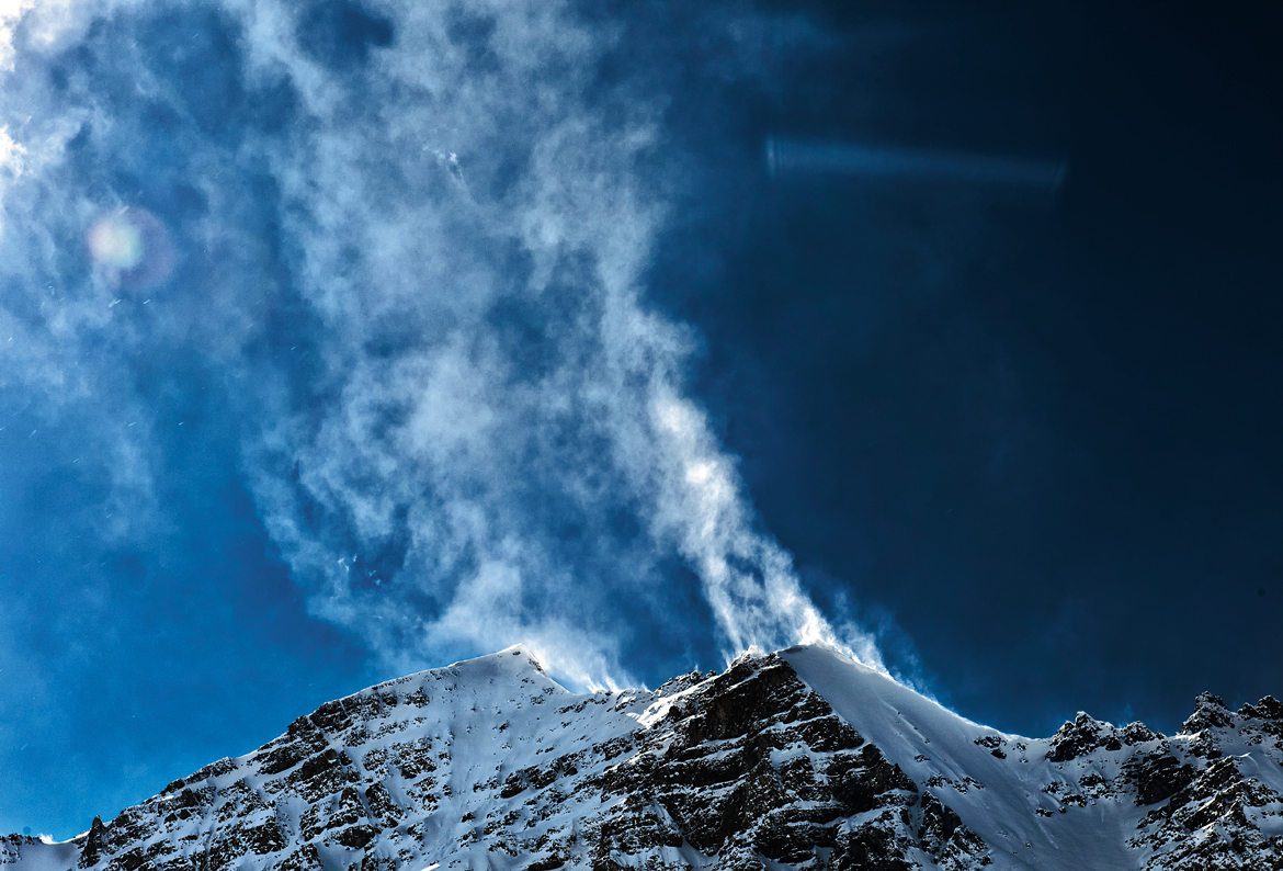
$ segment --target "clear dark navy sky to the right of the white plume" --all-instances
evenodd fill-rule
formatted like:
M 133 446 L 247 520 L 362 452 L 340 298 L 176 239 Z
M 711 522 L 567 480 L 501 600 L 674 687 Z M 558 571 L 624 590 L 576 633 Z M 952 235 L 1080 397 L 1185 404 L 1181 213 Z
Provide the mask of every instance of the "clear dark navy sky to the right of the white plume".
M 829 21 L 840 47 L 793 59 L 789 92 L 745 96 L 745 137 L 1069 169 L 1046 207 L 722 180 L 740 221 L 703 292 L 658 283 L 708 336 L 702 394 L 767 527 L 985 722 L 1046 734 L 1085 708 L 1170 730 L 1200 686 L 1277 694 L 1277 10 L 881 4 Z

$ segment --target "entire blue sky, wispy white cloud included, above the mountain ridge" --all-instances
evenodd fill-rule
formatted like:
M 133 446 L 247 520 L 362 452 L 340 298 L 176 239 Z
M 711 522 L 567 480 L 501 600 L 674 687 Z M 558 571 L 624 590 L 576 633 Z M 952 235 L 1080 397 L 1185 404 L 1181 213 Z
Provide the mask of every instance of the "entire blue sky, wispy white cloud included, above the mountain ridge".
M 657 682 L 822 613 L 1035 735 L 1283 693 L 1278 14 L 686 6 L 18 23 L 0 829 L 514 641 Z

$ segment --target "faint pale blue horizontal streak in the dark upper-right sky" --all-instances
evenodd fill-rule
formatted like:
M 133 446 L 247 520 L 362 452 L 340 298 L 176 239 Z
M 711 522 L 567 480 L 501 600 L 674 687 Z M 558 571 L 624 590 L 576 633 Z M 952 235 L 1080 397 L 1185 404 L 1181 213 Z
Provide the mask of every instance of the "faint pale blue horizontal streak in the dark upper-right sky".
M 903 149 L 835 140 L 766 139 L 771 176 L 826 173 L 862 178 L 903 178 L 1037 187 L 1055 192 L 1065 181 L 1061 160 Z

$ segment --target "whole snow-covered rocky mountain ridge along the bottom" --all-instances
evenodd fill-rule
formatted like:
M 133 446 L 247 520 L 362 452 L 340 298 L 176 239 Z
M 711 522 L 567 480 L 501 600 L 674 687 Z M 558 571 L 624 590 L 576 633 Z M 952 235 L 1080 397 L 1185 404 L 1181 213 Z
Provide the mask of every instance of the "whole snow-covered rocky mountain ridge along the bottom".
M 824 648 L 576 694 L 521 648 L 328 702 L 3 871 L 1283 868 L 1283 703 L 973 723 Z

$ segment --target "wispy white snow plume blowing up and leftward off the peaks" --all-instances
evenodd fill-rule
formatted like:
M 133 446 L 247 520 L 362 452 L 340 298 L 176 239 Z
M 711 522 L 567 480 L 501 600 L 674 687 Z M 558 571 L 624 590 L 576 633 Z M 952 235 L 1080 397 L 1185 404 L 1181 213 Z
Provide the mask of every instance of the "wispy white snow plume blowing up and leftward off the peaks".
M 625 23 L 101 9 L 6 19 L 0 341 L 10 395 L 99 416 L 131 517 L 163 525 L 191 408 L 312 612 L 389 666 L 521 640 L 588 684 L 695 632 L 876 661 L 754 526 L 684 393 L 693 337 L 645 301 L 681 162 L 665 95 L 612 72 Z M 149 367 L 222 399 L 176 405 Z

